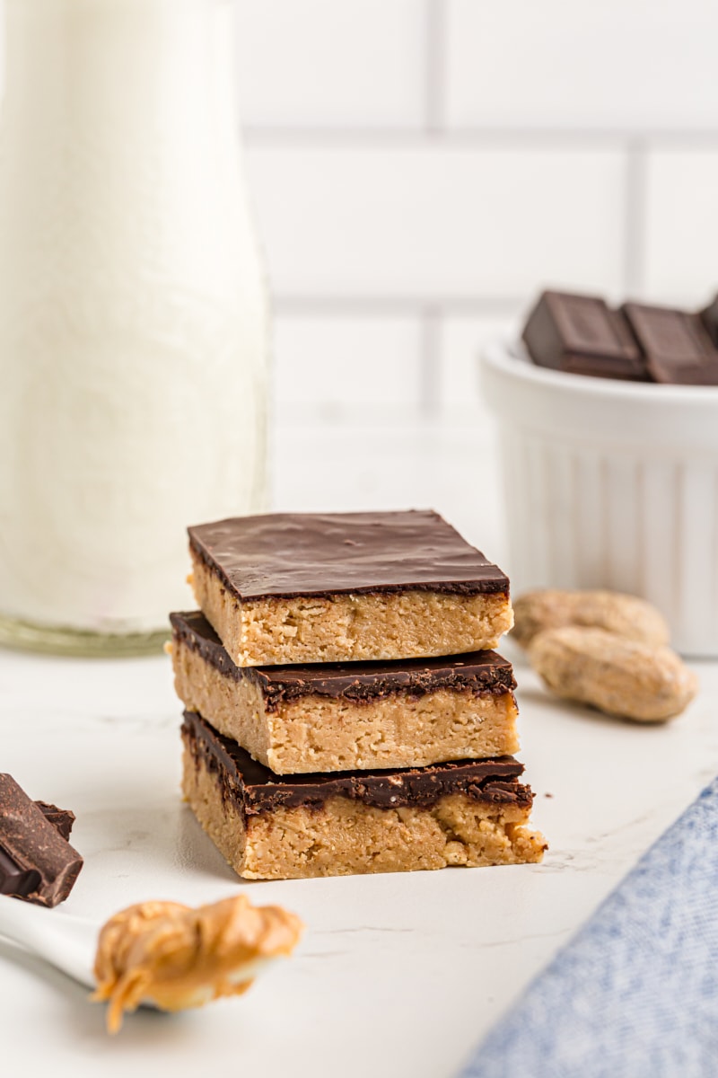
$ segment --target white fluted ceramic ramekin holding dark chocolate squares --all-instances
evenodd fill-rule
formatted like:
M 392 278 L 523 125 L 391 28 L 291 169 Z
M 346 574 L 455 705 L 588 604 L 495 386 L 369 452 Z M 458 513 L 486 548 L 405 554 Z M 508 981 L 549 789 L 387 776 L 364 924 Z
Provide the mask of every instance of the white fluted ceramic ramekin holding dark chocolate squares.
M 718 387 L 482 357 L 499 423 L 515 595 L 610 588 L 654 603 L 684 654 L 718 655 Z

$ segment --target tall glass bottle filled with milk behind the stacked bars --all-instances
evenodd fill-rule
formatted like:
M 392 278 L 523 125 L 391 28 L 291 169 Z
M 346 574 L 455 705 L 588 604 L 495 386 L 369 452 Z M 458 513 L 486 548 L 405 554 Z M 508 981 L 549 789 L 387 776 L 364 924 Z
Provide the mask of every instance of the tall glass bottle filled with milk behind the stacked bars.
M 231 0 L 5 0 L 0 641 L 151 650 L 262 508 L 267 312 Z

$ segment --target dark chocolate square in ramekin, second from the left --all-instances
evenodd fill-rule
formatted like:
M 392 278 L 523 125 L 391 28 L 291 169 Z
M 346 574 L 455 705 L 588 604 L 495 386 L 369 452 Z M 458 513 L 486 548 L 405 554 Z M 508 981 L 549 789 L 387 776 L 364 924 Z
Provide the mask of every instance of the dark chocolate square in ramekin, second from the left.
M 656 382 L 718 385 L 718 351 L 700 315 L 644 303 L 627 303 L 623 312 Z

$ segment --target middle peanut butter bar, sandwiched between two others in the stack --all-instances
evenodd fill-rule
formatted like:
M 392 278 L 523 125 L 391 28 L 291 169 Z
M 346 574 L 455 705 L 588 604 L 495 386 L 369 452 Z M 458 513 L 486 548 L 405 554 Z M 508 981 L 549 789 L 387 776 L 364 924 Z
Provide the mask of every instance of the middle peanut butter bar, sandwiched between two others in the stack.
M 494 651 L 241 667 L 201 613 L 170 621 L 180 699 L 276 774 L 422 768 L 519 747 L 511 664 Z

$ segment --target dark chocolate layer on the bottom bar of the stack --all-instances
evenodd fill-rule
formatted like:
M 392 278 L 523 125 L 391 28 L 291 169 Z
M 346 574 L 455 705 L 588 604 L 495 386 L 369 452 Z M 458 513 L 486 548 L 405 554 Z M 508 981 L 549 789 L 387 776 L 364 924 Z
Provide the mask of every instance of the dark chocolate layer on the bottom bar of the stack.
M 321 808 L 329 798 L 349 798 L 375 808 L 420 808 L 461 793 L 474 801 L 531 805 L 533 794 L 517 782 L 523 764 L 512 756 L 459 760 L 428 768 L 391 771 L 336 771 L 315 775 L 276 775 L 236 742 L 223 737 L 196 711 L 185 711 L 182 734 L 195 758 L 217 774 L 224 798 L 248 816 L 276 808 Z

